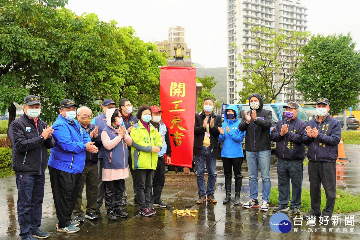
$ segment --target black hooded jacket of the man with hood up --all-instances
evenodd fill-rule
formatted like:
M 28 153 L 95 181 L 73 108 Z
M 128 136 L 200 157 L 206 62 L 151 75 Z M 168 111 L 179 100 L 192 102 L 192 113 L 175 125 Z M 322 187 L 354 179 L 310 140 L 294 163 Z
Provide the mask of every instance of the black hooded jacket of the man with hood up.
M 270 150 L 270 127 L 273 123 L 273 114 L 270 110 L 262 108 L 264 106 L 264 101 L 258 93 L 253 93 L 249 96 L 249 105 L 252 96 L 255 96 L 259 100 L 260 107 L 256 109 L 256 122 L 254 122 L 251 117 L 249 124 L 247 124 L 244 113 L 241 123 L 239 124 L 239 130 L 242 132 L 246 131 L 245 150 L 251 152 Z M 253 110 L 251 107 L 250 109 Z M 247 113 L 251 114 L 251 110 Z

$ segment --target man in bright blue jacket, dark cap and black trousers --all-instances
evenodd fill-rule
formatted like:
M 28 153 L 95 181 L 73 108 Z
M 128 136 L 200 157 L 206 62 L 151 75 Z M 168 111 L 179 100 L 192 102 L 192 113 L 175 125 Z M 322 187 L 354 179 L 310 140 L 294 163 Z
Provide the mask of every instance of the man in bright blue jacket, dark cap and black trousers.
M 89 134 L 83 130 L 75 119 L 76 107 L 71 99 L 60 103 L 59 117 L 53 124 L 55 146 L 49 158 L 49 175 L 53 191 L 57 231 L 73 233 L 80 230 L 72 221 L 71 214 L 75 207 L 81 187 L 81 173 L 85 165 L 85 151 L 97 153 L 98 148 L 91 142 Z

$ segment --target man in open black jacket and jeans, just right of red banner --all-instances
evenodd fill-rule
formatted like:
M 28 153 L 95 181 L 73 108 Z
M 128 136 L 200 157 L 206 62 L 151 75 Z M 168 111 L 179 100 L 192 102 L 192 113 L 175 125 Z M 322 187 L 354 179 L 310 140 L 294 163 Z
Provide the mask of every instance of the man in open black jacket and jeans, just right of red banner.
M 198 183 L 199 199 L 196 203 L 204 203 L 207 200 L 216 203 L 214 187 L 216 181 L 215 164 L 219 155 L 219 135 L 217 129 L 221 127 L 221 117 L 212 111 L 214 107 L 212 98 L 203 101 L 204 110 L 195 114 L 194 128 L 194 155 L 196 163 L 196 180 Z M 205 194 L 205 162 L 208 172 L 207 190 Z

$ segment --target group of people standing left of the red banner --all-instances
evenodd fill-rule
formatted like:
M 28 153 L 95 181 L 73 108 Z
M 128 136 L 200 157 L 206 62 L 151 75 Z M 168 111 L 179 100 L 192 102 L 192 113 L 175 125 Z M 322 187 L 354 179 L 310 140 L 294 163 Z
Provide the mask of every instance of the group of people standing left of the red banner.
M 105 99 L 103 113 L 91 121 L 91 109 L 64 99 L 58 118 L 49 127 L 39 118 L 41 99 L 34 95 L 24 99 L 24 114 L 9 129 L 21 240 L 50 235 L 40 230 L 47 166 L 59 232 L 74 233 L 84 218 L 98 219 L 103 201 L 110 221 L 127 217 L 122 207 L 126 206 L 124 180 L 129 177 L 129 168 L 139 213 L 151 216 L 156 214 L 154 205 L 167 207 L 161 193 L 165 164 L 171 163 L 171 145 L 167 127 L 160 122 L 162 110 L 142 105 L 134 116 L 129 99 L 121 99 L 119 107 L 112 99 Z

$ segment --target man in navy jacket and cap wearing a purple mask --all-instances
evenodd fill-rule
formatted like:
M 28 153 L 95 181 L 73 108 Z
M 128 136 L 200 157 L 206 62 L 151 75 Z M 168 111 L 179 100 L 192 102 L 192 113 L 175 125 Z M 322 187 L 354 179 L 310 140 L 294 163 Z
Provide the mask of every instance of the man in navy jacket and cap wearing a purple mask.
M 276 142 L 275 154 L 278 157 L 278 206 L 275 212 L 288 211 L 290 201 L 290 180 L 292 185 L 292 200 L 290 206 L 293 214 L 300 214 L 303 161 L 305 158 L 305 144 L 302 137 L 306 123 L 297 118 L 299 105 L 295 102 L 287 103 L 284 115 L 286 118 L 279 121 L 271 131 L 270 139 Z

